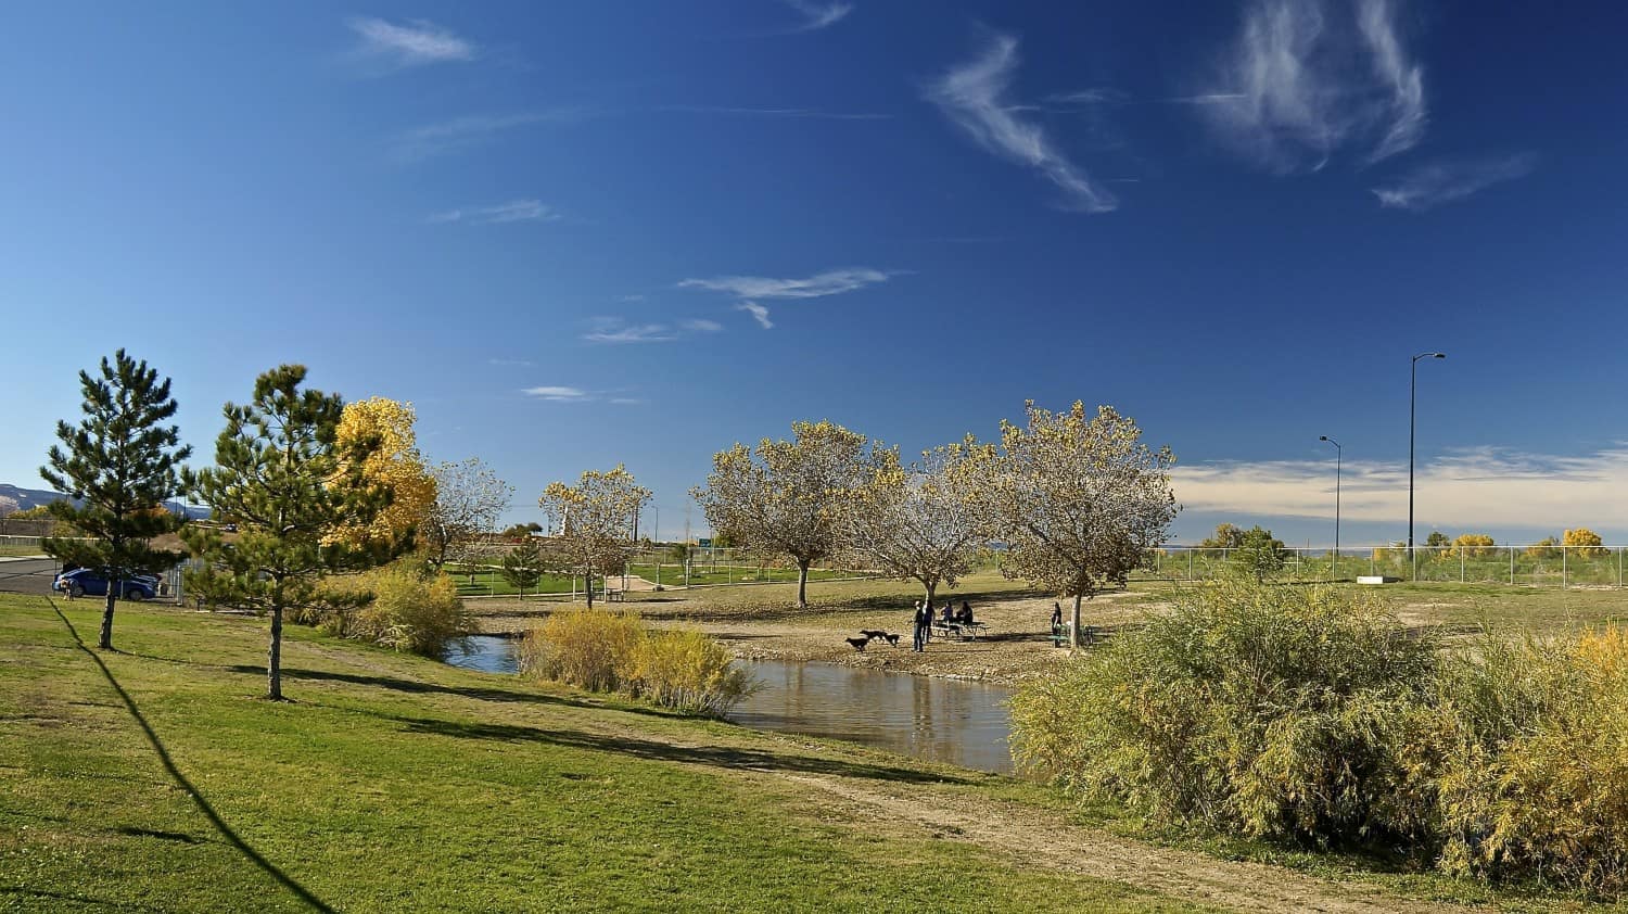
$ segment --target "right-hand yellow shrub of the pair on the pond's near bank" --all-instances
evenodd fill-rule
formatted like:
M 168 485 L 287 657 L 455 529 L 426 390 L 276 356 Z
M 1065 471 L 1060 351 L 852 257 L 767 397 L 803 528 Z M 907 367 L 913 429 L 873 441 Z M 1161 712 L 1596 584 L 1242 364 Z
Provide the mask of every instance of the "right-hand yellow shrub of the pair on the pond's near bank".
M 633 652 L 633 692 L 663 707 L 723 717 L 752 694 L 752 678 L 729 650 L 703 632 L 650 632 Z

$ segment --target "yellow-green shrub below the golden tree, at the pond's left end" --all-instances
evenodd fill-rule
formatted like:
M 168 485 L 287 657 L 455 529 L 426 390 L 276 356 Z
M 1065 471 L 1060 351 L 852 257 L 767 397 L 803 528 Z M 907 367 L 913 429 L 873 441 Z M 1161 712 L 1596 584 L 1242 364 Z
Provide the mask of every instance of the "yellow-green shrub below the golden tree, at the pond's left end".
M 453 578 L 428 572 L 412 560 L 340 578 L 329 587 L 373 595 L 360 609 L 327 611 L 300 619 L 314 622 L 329 634 L 440 657 L 448 642 L 474 629 Z

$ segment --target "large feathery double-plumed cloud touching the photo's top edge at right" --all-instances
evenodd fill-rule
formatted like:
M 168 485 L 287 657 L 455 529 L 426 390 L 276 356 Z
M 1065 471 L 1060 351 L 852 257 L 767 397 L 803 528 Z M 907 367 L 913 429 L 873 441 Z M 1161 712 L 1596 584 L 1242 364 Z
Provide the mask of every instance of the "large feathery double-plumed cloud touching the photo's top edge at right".
M 1172 101 L 1278 173 L 1322 168 L 1343 147 L 1374 163 L 1418 145 L 1429 122 L 1423 68 L 1389 0 L 1255 0 L 1208 81 Z

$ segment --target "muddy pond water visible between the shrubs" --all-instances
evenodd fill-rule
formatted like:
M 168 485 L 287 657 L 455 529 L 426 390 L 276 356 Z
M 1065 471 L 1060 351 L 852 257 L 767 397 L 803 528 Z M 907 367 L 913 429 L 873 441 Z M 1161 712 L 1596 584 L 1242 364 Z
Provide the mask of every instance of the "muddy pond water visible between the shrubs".
M 446 661 L 516 671 L 516 642 L 490 635 L 470 642 L 470 653 L 454 650 Z M 1013 769 L 1004 686 L 832 663 L 764 660 L 746 668 L 762 688 L 729 714 L 742 727 L 848 740 L 978 771 Z

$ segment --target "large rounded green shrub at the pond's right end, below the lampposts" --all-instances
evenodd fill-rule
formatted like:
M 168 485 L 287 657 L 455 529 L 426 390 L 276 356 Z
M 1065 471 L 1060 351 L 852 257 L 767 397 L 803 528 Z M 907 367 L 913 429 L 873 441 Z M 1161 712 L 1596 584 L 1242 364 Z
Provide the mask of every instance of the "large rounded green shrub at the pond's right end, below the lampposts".
M 1029 771 L 1161 823 L 1312 844 L 1424 821 L 1398 745 L 1436 645 L 1366 593 L 1216 582 L 1092 658 L 1019 688 Z

